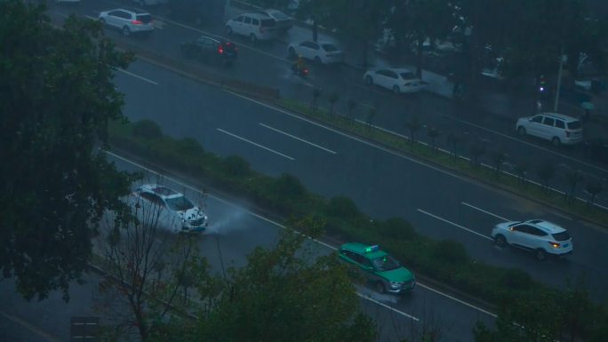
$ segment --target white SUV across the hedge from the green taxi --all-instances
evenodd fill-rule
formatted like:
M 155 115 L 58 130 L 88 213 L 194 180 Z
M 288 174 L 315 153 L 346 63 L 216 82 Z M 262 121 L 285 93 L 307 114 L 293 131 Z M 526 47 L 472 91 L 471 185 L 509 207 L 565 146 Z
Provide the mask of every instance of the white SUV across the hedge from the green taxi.
M 539 260 L 544 260 L 548 254 L 572 253 L 572 238 L 568 231 L 542 219 L 499 223 L 492 229 L 492 237 L 500 247 L 513 245 L 534 251 Z

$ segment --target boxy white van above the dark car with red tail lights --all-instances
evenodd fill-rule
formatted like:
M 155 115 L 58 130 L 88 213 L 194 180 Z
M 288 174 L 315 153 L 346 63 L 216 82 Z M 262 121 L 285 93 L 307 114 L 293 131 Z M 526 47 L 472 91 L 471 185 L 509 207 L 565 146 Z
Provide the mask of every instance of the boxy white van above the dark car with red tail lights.
M 276 21 L 263 13 L 243 13 L 226 23 L 228 35 L 246 36 L 252 43 L 276 37 Z

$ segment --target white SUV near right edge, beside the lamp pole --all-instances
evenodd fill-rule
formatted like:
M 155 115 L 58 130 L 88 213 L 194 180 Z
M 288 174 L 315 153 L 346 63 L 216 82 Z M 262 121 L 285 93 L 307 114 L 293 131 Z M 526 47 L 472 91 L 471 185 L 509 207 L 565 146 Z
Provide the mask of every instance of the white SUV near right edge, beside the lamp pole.
M 519 135 L 530 134 L 547 139 L 555 146 L 575 144 L 583 139 L 580 121 L 557 113 L 541 113 L 522 117 L 517 120 L 516 130 Z

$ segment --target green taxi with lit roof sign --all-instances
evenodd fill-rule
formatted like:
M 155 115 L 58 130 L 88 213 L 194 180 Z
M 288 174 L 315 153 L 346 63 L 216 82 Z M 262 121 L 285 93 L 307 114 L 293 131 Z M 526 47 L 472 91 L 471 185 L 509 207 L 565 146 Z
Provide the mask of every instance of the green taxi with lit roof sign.
M 381 251 L 378 245 L 344 243 L 339 255 L 343 261 L 362 270 L 364 277 L 380 293 L 403 293 L 416 285 L 414 274 L 386 251 Z

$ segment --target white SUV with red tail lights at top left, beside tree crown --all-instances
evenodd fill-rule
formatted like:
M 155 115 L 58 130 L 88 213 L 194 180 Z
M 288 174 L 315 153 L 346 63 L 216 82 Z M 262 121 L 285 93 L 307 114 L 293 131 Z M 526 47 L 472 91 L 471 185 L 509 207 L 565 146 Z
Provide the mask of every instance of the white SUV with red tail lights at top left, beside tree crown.
M 123 9 L 100 12 L 99 20 L 103 25 L 117 28 L 124 36 L 132 33 L 150 34 L 154 30 L 152 16 L 142 10 Z

